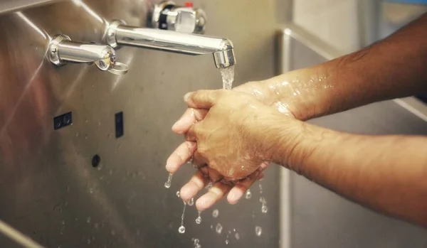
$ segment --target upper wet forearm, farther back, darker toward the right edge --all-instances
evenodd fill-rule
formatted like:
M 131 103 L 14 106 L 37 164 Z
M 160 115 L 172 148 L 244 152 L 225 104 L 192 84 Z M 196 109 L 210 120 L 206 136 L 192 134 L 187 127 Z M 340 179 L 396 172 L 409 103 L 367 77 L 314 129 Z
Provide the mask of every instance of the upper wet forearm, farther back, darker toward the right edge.
M 290 102 L 294 115 L 305 120 L 425 92 L 426 66 L 427 14 L 369 48 L 263 84 L 273 101 Z

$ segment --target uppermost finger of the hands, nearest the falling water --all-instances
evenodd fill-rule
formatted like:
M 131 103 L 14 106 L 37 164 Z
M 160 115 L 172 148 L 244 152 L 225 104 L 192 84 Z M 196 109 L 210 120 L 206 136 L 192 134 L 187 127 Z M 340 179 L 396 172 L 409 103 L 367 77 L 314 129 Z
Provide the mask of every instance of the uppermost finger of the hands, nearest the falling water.
M 222 90 L 199 90 L 184 96 L 184 102 L 196 109 L 210 109 L 221 95 Z

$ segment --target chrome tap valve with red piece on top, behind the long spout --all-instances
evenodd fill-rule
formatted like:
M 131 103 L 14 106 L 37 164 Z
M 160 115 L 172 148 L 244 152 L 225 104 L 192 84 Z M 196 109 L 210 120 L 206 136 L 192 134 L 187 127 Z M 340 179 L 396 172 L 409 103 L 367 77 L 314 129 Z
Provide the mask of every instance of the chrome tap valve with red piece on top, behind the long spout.
M 185 6 L 176 6 L 174 1 L 162 1 L 154 6 L 154 28 L 182 33 L 204 33 L 205 25 L 206 14 L 201 9 L 194 9 L 191 2 L 186 2 Z

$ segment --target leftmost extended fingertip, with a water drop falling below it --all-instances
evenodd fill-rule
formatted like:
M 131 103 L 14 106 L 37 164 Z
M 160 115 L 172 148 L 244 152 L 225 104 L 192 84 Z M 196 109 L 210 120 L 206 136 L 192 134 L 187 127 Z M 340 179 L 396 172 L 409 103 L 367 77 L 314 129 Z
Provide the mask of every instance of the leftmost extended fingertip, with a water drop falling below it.
M 178 171 L 179 167 L 186 163 L 186 161 L 189 161 L 196 149 L 197 144 L 195 142 L 185 141 L 180 144 L 171 156 L 167 158 L 166 170 L 169 171 L 169 173 Z

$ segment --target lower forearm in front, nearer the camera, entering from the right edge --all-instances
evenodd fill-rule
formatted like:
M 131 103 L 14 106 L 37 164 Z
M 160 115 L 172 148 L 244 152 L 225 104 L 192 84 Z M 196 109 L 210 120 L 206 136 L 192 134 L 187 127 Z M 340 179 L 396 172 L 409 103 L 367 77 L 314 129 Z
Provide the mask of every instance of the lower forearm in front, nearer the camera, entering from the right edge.
M 343 134 L 306 123 L 294 135 L 279 125 L 272 129 L 278 134 L 275 163 L 366 207 L 427 227 L 426 138 Z M 289 136 L 297 138 L 290 142 Z

